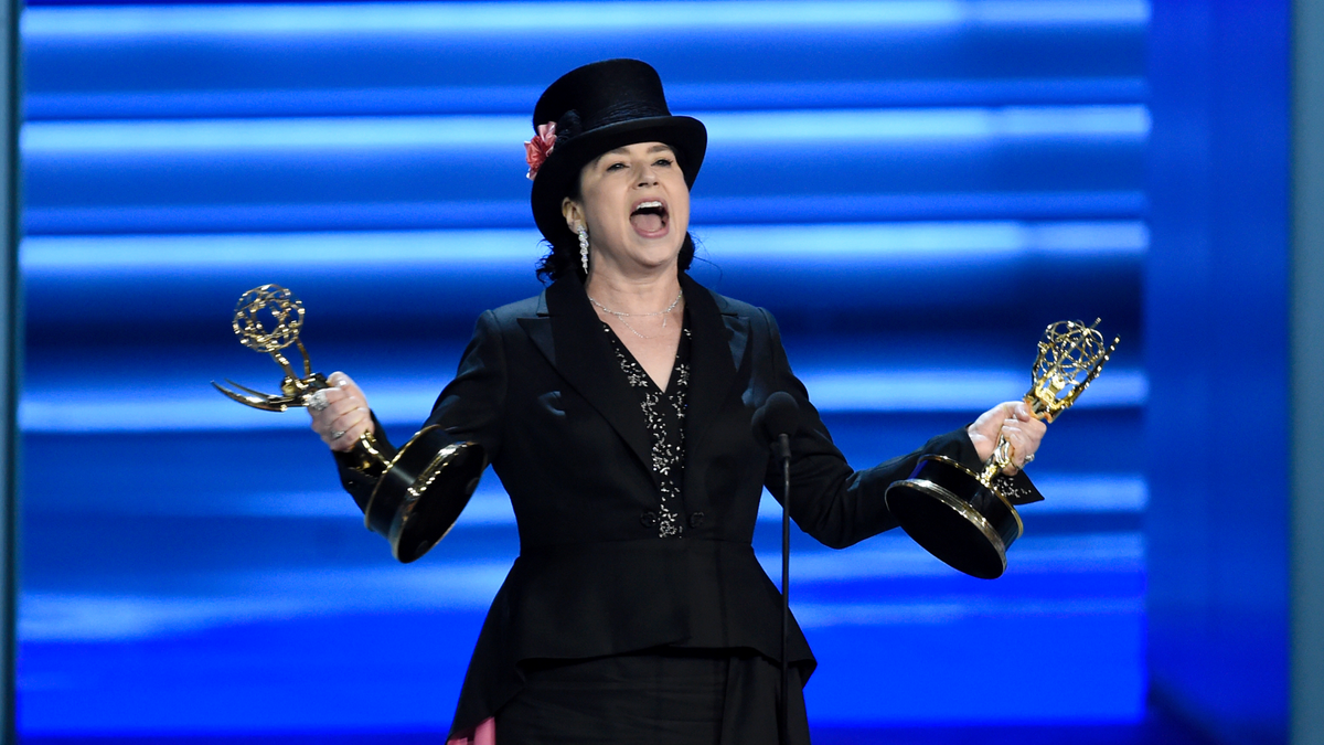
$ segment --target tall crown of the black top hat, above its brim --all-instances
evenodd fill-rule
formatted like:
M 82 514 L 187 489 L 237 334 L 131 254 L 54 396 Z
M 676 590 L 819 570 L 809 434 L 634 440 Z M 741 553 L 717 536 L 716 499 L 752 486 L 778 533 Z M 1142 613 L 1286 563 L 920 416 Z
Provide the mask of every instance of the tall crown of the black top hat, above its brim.
M 563 125 L 569 123 L 563 119 L 571 111 L 579 126 L 563 131 Z M 534 129 L 557 122 L 557 135 L 569 139 L 620 122 L 670 115 L 662 78 L 651 65 L 639 60 L 604 60 L 576 68 L 549 85 L 534 107 Z

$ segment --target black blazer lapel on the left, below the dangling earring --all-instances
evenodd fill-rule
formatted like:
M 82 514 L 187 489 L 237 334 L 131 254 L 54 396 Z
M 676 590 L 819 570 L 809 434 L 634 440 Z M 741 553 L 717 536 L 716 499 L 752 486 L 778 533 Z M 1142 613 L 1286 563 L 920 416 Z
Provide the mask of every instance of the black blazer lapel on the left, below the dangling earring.
M 520 318 L 519 325 L 565 382 L 629 444 L 639 464 L 651 475 L 647 428 L 638 396 L 621 374 L 602 322 L 589 305 L 579 278 L 571 276 L 552 282 L 539 302 L 539 317 Z

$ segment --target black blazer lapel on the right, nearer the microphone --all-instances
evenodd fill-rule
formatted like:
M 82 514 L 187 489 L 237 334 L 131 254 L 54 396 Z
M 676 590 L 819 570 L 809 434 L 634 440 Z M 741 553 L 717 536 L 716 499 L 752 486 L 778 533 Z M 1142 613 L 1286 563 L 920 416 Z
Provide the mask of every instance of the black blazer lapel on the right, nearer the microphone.
M 699 449 L 708 426 L 716 419 L 744 365 L 749 323 L 718 308 L 712 293 L 681 274 L 686 309 L 690 312 L 690 391 L 686 411 L 686 453 Z M 687 469 L 688 471 L 688 469 Z

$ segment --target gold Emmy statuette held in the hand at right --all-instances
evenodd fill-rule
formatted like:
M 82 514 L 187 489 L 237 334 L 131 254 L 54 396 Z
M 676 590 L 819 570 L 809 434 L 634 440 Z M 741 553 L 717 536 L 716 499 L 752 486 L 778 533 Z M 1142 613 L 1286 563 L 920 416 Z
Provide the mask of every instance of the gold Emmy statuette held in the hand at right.
M 1025 395 L 1033 416 L 1051 423 L 1103 371 L 1121 339 L 1106 345 L 1098 325 L 1098 319 L 1090 326 L 1058 321 L 1043 331 Z M 1023 471 L 1002 473 L 1014 456 L 1001 436 L 980 473 L 949 457 L 924 456 L 910 479 L 887 488 L 887 509 L 916 544 L 948 566 L 996 579 L 1006 571 L 1006 550 L 1025 532 L 1016 505 L 1043 498 Z

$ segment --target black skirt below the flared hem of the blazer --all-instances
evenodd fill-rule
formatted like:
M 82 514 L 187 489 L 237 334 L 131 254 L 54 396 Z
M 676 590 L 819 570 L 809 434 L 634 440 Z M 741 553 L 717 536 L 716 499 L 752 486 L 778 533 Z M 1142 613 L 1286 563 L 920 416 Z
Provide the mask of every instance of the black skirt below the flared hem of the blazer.
M 496 712 L 496 745 L 776 745 L 781 669 L 756 654 L 650 650 L 522 665 L 524 687 Z M 790 740 L 809 744 L 790 669 Z

